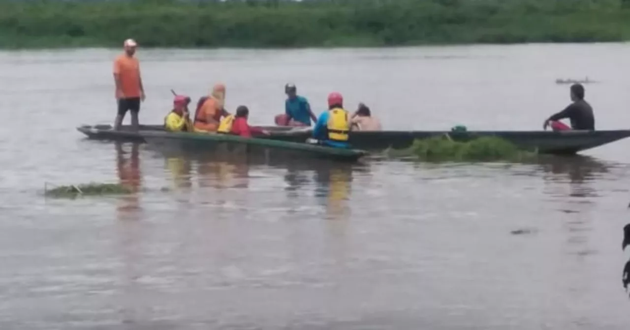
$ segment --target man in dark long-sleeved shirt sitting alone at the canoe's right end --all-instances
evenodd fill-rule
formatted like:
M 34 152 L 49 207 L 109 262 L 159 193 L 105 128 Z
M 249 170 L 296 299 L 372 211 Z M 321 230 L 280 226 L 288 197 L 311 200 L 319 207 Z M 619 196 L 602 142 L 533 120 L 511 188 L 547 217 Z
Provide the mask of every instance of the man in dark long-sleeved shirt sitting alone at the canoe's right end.
M 542 129 L 547 129 L 551 124 L 551 128 L 556 130 L 568 129 L 568 126 L 560 123 L 560 119 L 569 118 L 571 121 L 571 129 L 585 129 L 589 131 L 595 130 L 595 118 L 593 116 L 593 108 L 587 101 L 584 101 L 584 86 L 581 84 L 571 85 L 571 101 L 563 111 L 549 117 L 542 125 Z

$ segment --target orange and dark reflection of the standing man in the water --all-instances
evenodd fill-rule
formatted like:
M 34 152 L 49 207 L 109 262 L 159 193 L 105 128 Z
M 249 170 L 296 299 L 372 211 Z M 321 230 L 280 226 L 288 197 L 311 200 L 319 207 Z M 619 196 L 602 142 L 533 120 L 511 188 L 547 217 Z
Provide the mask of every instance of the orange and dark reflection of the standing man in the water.
M 130 143 L 131 150 L 129 157 L 125 156 L 123 143 L 115 143 L 116 148 L 116 168 L 118 180 L 121 185 L 128 187 L 134 193 L 120 197 L 117 213 L 119 219 L 139 217 L 141 210 L 139 202 L 139 190 L 142 186 L 142 173 L 140 172 L 139 144 Z

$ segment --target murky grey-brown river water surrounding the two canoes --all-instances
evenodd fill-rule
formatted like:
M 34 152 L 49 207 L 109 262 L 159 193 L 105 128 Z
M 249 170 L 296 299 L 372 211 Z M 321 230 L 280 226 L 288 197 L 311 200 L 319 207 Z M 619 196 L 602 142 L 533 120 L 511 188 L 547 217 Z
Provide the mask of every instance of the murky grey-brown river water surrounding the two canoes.
M 112 123 L 117 50 L 0 53 L 1 329 L 627 329 L 630 140 L 536 163 L 201 162 L 85 140 Z M 596 80 L 630 123 L 630 46 L 139 50 L 142 123 L 214 82 L 253 123 L 294 82 L 387 129 L 540 129 Z M 126 119 L 129 120 L 128 118 Z M 45 199 L 123 182 L 125 197 Z

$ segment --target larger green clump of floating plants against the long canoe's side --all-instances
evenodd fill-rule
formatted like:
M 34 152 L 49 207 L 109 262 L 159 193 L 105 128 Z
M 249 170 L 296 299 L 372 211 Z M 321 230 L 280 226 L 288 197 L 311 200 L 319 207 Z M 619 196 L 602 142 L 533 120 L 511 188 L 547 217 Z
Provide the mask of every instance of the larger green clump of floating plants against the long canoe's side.
M 427 161 L 498 161 L 521 160 L 534 153 L 520 150 L 510 141 L 484 136 L 471 141 L 454 141 L 448 136 L 416 140 L 409 148 L 411 155 Z

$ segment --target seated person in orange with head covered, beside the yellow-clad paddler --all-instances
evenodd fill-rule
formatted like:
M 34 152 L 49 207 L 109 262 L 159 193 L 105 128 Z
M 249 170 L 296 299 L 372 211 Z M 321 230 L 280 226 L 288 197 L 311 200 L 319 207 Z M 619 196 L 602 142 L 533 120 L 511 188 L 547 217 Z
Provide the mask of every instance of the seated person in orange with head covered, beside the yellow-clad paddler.
M 195 132 L 215 133 L 219 128 L 221 118 L 229 116 L 225 106 L 226 86 L 216 84 L 210 95 L 200 99 L 195 111 Z

